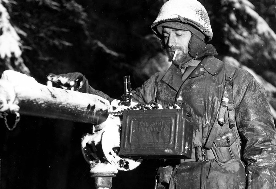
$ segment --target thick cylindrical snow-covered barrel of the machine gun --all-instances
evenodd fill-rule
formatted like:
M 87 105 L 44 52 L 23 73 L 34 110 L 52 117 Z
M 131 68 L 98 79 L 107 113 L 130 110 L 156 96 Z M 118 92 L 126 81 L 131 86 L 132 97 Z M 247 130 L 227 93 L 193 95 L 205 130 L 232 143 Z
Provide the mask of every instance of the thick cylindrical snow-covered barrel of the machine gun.
M 0 79 L 0 112 L 101 124 L 109 107 L 97 95 L 48 87 L 13 70 L 4 71 Z

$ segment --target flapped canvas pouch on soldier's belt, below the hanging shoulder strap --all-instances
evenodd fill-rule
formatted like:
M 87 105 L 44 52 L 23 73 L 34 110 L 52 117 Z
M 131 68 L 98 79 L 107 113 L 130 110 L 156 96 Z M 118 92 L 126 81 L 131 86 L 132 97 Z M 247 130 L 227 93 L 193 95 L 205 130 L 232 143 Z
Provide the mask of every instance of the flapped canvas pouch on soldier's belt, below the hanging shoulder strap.
M 236 133 L 230 130 L 219 135 L 212 145 L 212 151 L 220 166 L 240 160 L 240 141 Z

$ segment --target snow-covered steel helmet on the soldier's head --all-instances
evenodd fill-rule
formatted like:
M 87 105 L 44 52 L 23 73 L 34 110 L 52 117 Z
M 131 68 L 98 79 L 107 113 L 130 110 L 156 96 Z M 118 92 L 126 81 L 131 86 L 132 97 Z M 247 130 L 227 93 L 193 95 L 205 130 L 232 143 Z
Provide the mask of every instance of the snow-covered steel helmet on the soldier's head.
M 153 32 L 161 38 L 157 26 L 168 21 L 179 21 L 191 24 L 205 35 L 205 41 L 210 41 L 213 32 L 208 13 L 197 0 L 169 0 L 161 7 L 156 20 L 152 23 Z

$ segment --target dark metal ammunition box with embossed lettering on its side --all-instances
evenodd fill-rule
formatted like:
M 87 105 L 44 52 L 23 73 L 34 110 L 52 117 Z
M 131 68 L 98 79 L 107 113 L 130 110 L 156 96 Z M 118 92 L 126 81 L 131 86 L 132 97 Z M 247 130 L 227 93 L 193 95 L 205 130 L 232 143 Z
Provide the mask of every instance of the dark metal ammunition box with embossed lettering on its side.
M 119 155 L 190 159 L 192 117 L 183 109 L 124 111 Z

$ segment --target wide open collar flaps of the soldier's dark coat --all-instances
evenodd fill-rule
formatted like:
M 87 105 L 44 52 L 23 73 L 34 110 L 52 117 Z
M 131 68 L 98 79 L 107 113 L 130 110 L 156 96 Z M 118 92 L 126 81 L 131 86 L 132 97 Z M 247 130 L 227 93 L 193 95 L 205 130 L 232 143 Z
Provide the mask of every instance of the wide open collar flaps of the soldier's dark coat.
M 215 76 L 218 72 L 220 72 L 222 67 L 222 61 L 218 60 L 214 56 L 207 56 L 197 65 L 188 78 L 201 76 L 205 74 L 205 72 Z M 178 91 L 183 83 L 181 77 L 182 73 L 180 70 L 172 64 L 163 76 L 162 80 L 170 85 L 175 91 Z

